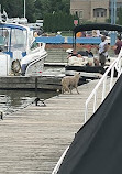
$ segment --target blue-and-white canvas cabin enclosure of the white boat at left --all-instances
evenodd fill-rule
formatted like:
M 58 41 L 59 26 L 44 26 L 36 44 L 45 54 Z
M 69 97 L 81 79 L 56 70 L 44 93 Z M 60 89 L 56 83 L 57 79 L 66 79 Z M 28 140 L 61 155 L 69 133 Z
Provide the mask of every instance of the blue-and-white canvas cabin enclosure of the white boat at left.
M 25 56 L 32 43 L 33 35 L 29 28 L 20 24 L 0 23 L 0 51 L 15 58 L 15 54 L 20 54 L 20 58 Z

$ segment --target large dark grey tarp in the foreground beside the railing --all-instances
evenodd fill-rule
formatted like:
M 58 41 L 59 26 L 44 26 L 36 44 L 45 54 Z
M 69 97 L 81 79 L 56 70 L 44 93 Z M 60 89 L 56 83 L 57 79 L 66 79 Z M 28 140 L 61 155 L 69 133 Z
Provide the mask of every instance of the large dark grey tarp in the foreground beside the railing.
M 122 75 L 77 132 L 58 174 L 122 174 Z

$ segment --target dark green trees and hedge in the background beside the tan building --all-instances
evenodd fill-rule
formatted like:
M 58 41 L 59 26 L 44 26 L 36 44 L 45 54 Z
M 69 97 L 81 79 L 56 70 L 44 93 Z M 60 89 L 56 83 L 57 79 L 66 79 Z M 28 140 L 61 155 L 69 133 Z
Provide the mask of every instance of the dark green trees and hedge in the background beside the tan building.
M 9 18 L 24 17 L 24 0 L 0 0 L 0 4 Z M 70 14 L 70 0 L 25 0 L 25 17 L 30 23 L 43 19 L 45 32 L 73 30 L 74 20 L 78 20 Z M 122 8 L 117 17 L 117 23 L 122 24 Z

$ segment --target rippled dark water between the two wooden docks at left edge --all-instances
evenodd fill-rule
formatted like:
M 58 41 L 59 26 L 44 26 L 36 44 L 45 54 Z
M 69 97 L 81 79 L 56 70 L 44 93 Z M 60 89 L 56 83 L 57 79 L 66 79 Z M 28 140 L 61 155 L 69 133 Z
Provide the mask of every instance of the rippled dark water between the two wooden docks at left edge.
M 27 107 L 35 97 L 47 99 L 56 95 L 57 93 L 52 90 L 40 90 L 36 94 L 29 90 L 0 90 L 0 112 L 8 115 Z

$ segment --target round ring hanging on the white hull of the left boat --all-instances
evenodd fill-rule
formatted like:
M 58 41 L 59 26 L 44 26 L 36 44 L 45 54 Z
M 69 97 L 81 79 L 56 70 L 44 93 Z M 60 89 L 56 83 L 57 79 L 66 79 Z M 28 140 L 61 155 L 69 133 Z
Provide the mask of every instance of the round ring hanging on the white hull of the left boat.
M 14 59 L 11 64 L 11 69 L 14 74 L 19 73 L 21 69 L 21 64 L 19 59 Z

